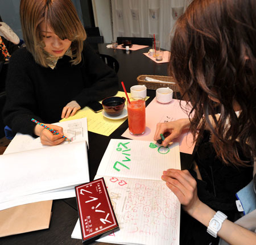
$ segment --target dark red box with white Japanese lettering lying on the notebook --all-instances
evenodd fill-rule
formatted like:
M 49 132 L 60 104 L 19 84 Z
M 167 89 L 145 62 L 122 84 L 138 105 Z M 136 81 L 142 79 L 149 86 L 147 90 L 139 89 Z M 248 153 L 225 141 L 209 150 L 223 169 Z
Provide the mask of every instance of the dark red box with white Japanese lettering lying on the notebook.
M 83 244 L 119 230 L 104 178 L 75 189 Z

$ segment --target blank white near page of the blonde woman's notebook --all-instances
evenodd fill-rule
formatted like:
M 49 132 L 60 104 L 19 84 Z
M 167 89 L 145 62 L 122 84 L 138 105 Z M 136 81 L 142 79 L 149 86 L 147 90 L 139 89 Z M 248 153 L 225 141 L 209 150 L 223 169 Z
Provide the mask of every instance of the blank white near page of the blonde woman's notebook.
M 0 155 L 0 168 L 0 210 L 72 197 L 74 192 L 67 192 L 71 196 L 62 195 L 59 188 L 70 189 L 89 181 L 86 141 Z

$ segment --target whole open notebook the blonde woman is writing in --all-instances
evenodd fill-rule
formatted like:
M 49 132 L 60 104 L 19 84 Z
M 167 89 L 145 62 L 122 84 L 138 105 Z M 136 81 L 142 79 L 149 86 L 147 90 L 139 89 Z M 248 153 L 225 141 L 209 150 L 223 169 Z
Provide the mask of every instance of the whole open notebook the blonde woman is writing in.
M 43 146 L 40 138 L 17 134 L 0 155 L 0 210 L 75 197 L 74 187 L 89 181 L 86 118 L 58 125 L 72 142 Z

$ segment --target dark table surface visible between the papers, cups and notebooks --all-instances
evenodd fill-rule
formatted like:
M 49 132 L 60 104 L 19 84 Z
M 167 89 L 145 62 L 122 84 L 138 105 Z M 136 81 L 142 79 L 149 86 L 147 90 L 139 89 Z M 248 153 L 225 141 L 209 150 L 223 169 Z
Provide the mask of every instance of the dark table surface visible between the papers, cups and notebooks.
M 127 88 L 137 85 L 138 75 L 167 75 L 168 64 L 156 64 L 144 56 L 149 48 L 144 48 L 136 51 L 122 49 L 108 49 L 106 44 L 98 44 L 98 52 L 113 56 L 119 62 L 119 90 L 123 91 L 121 81 Z M 147 95 L 150 98 L 146 105 L 155 97 L 154 90 L 147 90 Z M 123 138 L 121 134 L 128 128 L 127 120 L 123 122 L 117 130 L 109 137 L 100 134 L 88 132 L 90 149 L 88 150 L 88 163 L 90 180 L 93 180 L 96 175 L 97 168 L 101 162 L 106 147 L 111 138 Z M 95 151 L 94 149 L 97 149 Z M 180 153 L 181 168 L 185 169 L 191 165 L 193 155 Z M 33 231 L 30 233 L 18 234 L 0 238 L 1 245 L 19 244 L 19 245 L 34 245 L 34 244 L 82 244 L 81 240 L 71 238 L 72 231 L 78 219 L 76 198 L 67 198 L 62 200 L 54 200 L 52 205 L 52 217 L 49 229 Z M 94 243 L 92 243 L 94 244 Z M 105 244 L 97 243 L 95 244 Z M 106 243 L 107 244 L 107 243 Z M 108 243 L 109 244 L 109 243 Z

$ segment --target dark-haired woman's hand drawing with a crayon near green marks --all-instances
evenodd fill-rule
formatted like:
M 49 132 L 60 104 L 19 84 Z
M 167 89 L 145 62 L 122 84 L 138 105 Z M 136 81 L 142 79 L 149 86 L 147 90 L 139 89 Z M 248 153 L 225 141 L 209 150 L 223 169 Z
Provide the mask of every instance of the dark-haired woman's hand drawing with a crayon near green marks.
M 160 134 L 169 132 L 170 135 L 165 138 L 163 141 L 163 146 L 167 146 L 168 143 L 172 142 L 175 138 L 179 137 L 183 129 L 189 128 L 190 121 L 189 119 L 179 119 L 176 121 L 170 122 L 159 122 L 156 125 L 154 140 L 157 141 L 160 139 Z

